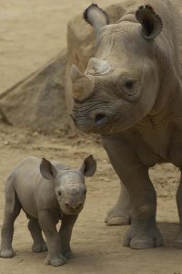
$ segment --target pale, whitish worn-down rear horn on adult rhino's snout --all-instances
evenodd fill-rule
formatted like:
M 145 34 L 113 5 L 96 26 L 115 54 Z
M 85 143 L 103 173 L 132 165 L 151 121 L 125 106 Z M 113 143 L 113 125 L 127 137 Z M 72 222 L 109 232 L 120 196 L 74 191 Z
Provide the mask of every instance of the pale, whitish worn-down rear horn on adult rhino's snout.
M 99 58 L 90 58 L 86 75 L 104 75 L 111 71 L 111 66 L 108 61 Z

